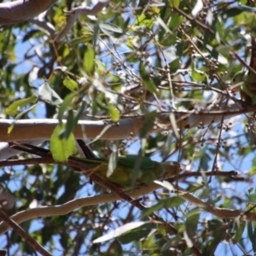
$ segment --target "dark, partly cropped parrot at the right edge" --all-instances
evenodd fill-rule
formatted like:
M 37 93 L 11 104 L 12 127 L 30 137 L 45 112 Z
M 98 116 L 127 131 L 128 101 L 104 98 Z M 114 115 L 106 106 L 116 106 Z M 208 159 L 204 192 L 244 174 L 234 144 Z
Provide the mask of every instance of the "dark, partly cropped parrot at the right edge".
M 249 105 L 256 104 L 256 38 L 252 36 L 252 55 L 250 61 L 250 67 L 253 68 L 255 73 L 251 70 L 247 74 L 244 72 L 236 73 L 233 78 L 232 84 L 238 84 L 243 82 L 240 87 L 241 99 L 247 102 Z

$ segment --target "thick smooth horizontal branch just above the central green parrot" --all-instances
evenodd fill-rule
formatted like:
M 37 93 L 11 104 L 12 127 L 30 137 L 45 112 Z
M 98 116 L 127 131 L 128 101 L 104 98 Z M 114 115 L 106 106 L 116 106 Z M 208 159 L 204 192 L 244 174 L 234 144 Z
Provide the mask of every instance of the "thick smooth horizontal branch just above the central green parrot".
M 256 112 L 256 107 L 239 108 L 231 104 L 225 110 L 192 110 L 173 111 L 177 122 L 177 128 L 189 129 L 198 125 L 211 125 L 222 119 L 229 119 L 241 113 Z M 80 120 L 73 133 L 76 138 L 101 138 L 108 140 L 125 139 L 136 136 L 144 124 L 145 116 L 127 117 L 113 123 L 109 120 L 89 121 Z M 63 120 L 65 122 L 66 120 Z M 14 124 L 14 129 L 8 134 L 9 126 Z M 59 124 L 57 119 L 0 119 L 0 141 L 24 141 L 42 139 L 48 140 L 55 126 Z M 170 113 L 158 113 L 151 132 L 172 130 Z

